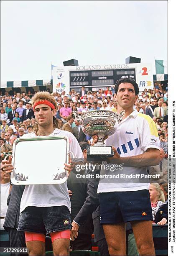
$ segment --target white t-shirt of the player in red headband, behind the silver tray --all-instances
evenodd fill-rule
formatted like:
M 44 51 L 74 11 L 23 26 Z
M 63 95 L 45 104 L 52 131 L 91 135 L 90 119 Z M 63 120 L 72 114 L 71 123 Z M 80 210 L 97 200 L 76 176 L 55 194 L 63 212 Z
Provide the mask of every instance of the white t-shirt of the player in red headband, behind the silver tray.
M 74 137 L 72 133 L 68 131 L 62 131 L 56 128 L 54 132 L 51 133 L 49 136 L 62 135 L 65 135 L 69 138 L 69 151 L 73 152 L 75 159 L 83 159 L 82 150 L 79 146 L 77 139 Z M 32 138 L 36 137 L 36 134 L 28 133 L 23 135 L 23 138 L 24 137 Z M 58 161 L 59 150 L 61 150 L 61 148 L 58 148 Z M 32 160 L 31 163 L 26 164 L 31 164 L 31 168 L 35 168 L 35 166 L 33 166 Z M 71 211 L 67 182 L 64 182 L 62 184 L 26 185 L 21 198 L 20 212 L 25 210 L 25 208 L 28 206 L 51 207 L 61 205 L 65 205 Z

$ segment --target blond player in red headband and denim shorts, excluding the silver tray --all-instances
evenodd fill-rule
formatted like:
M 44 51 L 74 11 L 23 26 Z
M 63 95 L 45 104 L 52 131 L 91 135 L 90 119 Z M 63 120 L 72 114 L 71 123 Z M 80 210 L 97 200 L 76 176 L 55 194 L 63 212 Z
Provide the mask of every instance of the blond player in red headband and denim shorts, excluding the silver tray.
M 38 92 L 31 101 L 36 123 L 33 132 L 24 136 L 29 138 L 65 135 L 69 138 L 69 151 L 74 153 L 75 158 L 83 158 L 77 139 L 72 133 L 59 128 L 58 120 L 55 118 L 57 102 L 54 96 L 48 92 Z M 3 171 L 12 172 L 11 159 L 3 161 L 2 167 Z M 35 168 L 35 165 L 33 167 Z M 65 164 L 64 169 L 71 171 L 69 164 Z M 26 185 L 21 198 L 17 230 L 25 232 L 29 255 L 45 255 L 45 236 L 48 233 L 51 236 L 54 255 L 69 255 L 70 210 L 67 182 Z

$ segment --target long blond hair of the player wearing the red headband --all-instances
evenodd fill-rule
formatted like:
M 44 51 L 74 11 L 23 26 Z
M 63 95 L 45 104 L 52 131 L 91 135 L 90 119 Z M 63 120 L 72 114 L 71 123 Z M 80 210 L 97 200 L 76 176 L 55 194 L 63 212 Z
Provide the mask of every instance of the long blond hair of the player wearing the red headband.
M 34 105 L 34 103 L 36 102 L 40 102 L 40 101 L 43 101 L 43 100 L 48 100 L 49 102 L 51 102 L 55 109 L 57 110 L 57 102 L 54 98 L 53 95 L 51 95 L 49 92 L 37 92 L 31 99 L 31 104 L 32 106 Z M 53 117 L 53 127 L 54 128 L 58 128 L 58 129 L 61 129 L 60 125 L 59 125 L 59 122 L 57 120 L 57 118 L 54 116 Z M 35 122 L 33 125 L 32 125 L 32 128 L 33 128 L 33 132 L 37 134 L 38 132 L 38 123 Z

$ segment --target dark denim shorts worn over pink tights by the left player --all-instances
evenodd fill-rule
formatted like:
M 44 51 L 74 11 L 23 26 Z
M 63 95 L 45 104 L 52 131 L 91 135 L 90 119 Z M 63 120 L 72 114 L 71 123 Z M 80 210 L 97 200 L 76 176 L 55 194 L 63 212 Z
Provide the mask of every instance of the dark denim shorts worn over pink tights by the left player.
M 48 234 L 71 229 L 70 212 L 66 206 L 28 206 L 20 213 L 17 230 Z

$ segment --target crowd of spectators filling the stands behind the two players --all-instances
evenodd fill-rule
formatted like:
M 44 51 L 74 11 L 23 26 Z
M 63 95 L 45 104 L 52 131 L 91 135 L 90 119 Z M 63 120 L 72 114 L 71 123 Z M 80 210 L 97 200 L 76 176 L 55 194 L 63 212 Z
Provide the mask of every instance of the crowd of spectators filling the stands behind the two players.
M 157 217 L 157 222 L 155 220 L 160 207 L 167 204 L 168 93 L 164 89 L 162 84 L 155 83 L 153 90 L 145 89 L 139 92 L 138 99 L 133 107 L 139 113 L 149 115 L 156 123 L 158 129 L 161 161 L 159 166 L 148 168 L 148 172 L 150 174 L 156 172 L 162 174 L 159 179 L 152 180 L 153 183 L 151 183 L 149 189 L 153 210 L 153 223 L 160 225 L 167 223 L 165 208 L 163 210 L 163 218 Z M 87 88 L 82 87 L 80 92 L 72 89 L 68 94 L 65 91 L 61 93 L 52 92 L 51 94 L 58 103 L 56 118 L 59 120 L 60 127 L 65 131 L 73 133 L 79 143 L 87 142 L 91 145 L 92 138 L 83 133 L 80 123 L 74 119 L 73 111 L 77 111 L 79 114 L 91 110 L 110 110 L 117 112 L 117 102 L 114 100 L 113 87 L 107 87 L 105 90 L 99 89 L 96 92 L 88 91 Z M 0 95 L 1 160 L 12 152 L 12 146 L 16 138 L 20 138 L 24 134 L 31 133 L 32 131 L 32 126 L 36 122 L 31 105 L 32 97 L 33 94 L 31 93 L 19 93 L 15 91 L 13 91 L 13 95 L 12 93 L 9 94 L 8 91 L 4 95 Z M 3 177 L 2 174 L 1 179 L 1 184 L 4 186 L 4 184 L 8 183 L 7 188 L 9 189 L 9 177 Z M 5 193 L 8 195 L 7 191 Z M 7 207 L 5 209 L 7 210 Z M 3 224 L 1 225 L 1 229 L 3 229 Z

